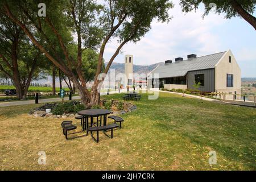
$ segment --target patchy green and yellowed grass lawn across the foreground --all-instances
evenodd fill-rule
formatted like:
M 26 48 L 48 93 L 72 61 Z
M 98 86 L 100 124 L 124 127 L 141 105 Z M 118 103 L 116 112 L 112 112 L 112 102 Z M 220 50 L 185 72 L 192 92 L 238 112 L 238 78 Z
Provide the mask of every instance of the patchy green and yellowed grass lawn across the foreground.
M 120 100 L 122 94 L 102 98 Z M 90 135 L 65 140 L 63 119 L 26 114 L 35 105 L 1 108 L 1 169 L 256 169 L 255 109 L 171 93 L 160 93 L 158 100 L 143 94 L 141 101 L 131 102 L 137 111 L 121 116 L 123 128 L 113 139 L 100 133 L 99 143 Z M 80 121 L 73 122 L 80 131 Z M 46 165 L 37 163 L 42 150 Z M 209 151 L 216 151 L 216 165 L 209 165 Z

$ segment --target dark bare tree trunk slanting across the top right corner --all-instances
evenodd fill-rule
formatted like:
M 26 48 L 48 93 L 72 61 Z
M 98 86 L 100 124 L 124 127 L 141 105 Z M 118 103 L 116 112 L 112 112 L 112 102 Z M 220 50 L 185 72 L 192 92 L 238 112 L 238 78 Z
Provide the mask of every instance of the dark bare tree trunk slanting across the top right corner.
M 237 11 L 237 13 L 242 16 L 242 18 L 245 19 L 248 23 L 250 23 L 251 26 L 253 26 L 256 30 L 256 18 L 253 15 L 249 14 L 247 11 L 245 11 L 245 9 L 243 9 L 240 3 L 238 3 L 236 0 L 230 0 L 230 4 L 233 9 Z

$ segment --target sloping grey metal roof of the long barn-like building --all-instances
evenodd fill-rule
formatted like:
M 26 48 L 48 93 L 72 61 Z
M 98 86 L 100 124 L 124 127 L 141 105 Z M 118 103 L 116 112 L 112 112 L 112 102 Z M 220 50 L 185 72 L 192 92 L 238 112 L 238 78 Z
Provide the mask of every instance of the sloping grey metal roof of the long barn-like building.
M 154 69 L 151 73 L 159 73 L 159 78 L 185 76 L 189 71 L 214 68 L 225 53 L 226 51 L 196 57 L 192 60 L 159 65 L 159 67 Z

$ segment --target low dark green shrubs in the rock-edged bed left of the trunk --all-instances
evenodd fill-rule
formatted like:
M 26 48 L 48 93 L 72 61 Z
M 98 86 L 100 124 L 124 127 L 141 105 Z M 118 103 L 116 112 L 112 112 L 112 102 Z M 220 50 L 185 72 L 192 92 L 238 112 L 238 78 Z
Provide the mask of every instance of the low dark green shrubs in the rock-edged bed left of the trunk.
M 77 111 L 84 110 L 85 105 L 77 101 L 64 102 L 56 105 L 52 110 L 53 114 L 63 114 L 63 113 L 77 113 Z

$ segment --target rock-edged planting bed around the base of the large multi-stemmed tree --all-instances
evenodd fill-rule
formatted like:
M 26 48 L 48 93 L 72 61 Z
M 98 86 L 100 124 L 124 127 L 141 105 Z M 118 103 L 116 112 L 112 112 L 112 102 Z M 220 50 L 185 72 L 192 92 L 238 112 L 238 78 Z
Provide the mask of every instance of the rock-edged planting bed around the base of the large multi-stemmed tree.
M 85 106 L 81 102 L 72 101 L 63 103 L 45 104 L 32 109 L 28 114 L 33 117 L 49 118 L 73 118 L 78 114 L 77 111 L 84 110 Z M 93 106 L 92 109 L 109 109 L 113 114 L 125 114 L 137 110 L 137 106 L 129 102 L 118 100 L 101 100 L 100 105 Z

